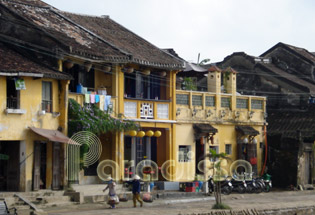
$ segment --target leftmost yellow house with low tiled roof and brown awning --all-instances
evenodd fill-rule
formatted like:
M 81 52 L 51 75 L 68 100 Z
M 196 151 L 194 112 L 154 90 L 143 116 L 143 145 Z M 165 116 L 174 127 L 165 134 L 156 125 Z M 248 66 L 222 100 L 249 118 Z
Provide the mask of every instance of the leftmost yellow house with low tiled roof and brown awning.
M 12 47 L 0 42 L 0 190 L 60 189 L 71 76 Z

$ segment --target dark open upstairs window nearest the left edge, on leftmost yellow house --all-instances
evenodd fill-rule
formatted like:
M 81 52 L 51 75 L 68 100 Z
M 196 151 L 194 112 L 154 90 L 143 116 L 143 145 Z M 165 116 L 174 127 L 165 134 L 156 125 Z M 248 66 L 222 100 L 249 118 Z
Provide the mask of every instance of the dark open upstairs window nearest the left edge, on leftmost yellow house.
M 7 108 L 20 108 L 20 91 L 16 90 L 15 80 L 10 77 L 7 77 Z

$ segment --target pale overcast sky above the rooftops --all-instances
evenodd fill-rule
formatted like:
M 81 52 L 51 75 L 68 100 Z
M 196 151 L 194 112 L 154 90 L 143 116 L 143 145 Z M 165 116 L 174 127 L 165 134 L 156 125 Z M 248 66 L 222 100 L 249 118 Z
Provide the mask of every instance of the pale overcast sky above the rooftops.
M 315 52 L 314 0 L 44 0 L 69 12 L 109 15 L 188 61 L 259 56 L 278 42 Z

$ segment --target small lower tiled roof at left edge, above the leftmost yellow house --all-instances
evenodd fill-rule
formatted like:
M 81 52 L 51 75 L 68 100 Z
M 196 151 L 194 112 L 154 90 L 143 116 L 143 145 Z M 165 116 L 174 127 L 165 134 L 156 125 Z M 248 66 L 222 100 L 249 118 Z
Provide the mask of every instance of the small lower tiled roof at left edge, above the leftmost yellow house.
M 5 73 L 8 75 L 17 74 L 16 76 L 27 76 L 27 73 L 43 75 L 45 78 L 54 78 L 60 80 L 71 80 L 69 74 L 55 71 L 44 66 L 41 66 L 27 57 L 18 54 L 12 49 L 0 43 L 0 75 Z

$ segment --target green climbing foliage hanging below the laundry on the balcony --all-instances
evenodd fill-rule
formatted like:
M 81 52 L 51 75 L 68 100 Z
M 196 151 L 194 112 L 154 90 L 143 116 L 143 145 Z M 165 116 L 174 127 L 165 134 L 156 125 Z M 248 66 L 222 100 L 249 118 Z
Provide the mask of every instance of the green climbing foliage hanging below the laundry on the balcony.
M 79 131 L 90 131 L 96 135 L 111 131 L 138 130 L 133 121 L 124 121 L 120 114 L 113 118 L 95 105 L 92 108 L 81 107 L 74 99 L 69 99 L 69 135 Z

